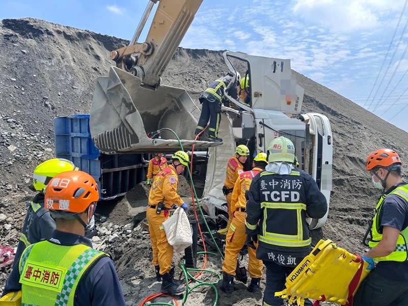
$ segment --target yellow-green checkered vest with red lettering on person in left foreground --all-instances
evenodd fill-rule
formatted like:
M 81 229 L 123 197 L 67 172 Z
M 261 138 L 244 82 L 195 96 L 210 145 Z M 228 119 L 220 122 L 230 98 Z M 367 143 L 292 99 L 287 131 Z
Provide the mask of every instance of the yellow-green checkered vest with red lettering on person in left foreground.
M 30 245 L 19 263 L 21 305 L 73 305 L 81 277 L 101 256 L 109 255 L 84 244 L 41 241 Z

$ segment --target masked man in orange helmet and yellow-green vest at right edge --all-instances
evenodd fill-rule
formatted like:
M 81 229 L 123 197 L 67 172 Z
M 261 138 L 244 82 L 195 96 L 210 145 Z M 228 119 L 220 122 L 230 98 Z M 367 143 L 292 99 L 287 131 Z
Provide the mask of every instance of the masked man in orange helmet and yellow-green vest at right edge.
M 401 165 L 392 149 L 373 151 L 367 158 L 366 171 L 382 196 L 375 207 L 370 250 L 363 256 L 373 270 L 356 292 L 354 306 L 408 305 L 408 183 L 401 180 Z

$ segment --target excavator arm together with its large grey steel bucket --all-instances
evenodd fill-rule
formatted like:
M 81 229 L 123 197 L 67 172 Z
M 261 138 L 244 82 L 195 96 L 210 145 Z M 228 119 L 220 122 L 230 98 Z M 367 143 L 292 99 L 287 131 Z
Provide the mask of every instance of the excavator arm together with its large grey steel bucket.
M 146 40 L 137 43 L 156 2 L 149 2 L 130 45 L 111 53 L 116 67 L 97 79 L 89 123 L 94 144 L 105 154 L 177 150 L 179 142 L 168 129 L 184 149 L 218 145 L 188 140 L 200 110 L 186 90 L 162 85 L 160 78 L 202 0 L 160 0 Z M 156 131 L 161 132 L 151 133 Z

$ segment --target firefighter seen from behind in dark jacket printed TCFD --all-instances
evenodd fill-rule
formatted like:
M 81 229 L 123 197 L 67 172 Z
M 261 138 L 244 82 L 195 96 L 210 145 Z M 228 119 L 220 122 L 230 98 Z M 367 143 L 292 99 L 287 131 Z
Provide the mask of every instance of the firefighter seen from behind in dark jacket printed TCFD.
M 254 177 L 248 192 L 245 228 L 253 242 L 259 240 L 257 258 L 266 266 L 264 306 L 284 305 L 275 292 L 285 288 L 286 277 L 312 250 L 306 218 L 321 218 L 327 211 L 313 177 L 293 168 L 294 158 L 292 141 L 272 140 L 269 164 Z

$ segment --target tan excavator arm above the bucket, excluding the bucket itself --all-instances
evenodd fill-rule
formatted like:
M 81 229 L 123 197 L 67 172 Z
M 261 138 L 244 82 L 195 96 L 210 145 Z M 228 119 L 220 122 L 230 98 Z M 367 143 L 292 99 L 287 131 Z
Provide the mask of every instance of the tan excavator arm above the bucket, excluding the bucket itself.
M 145 85 L 156 86 L 186 34 L 202 0 L 160 0 L 146 40 L 137 43 L 152 7 L 150 0 L 129 46 L 112 51 L 116 67 L 130 71 Z

